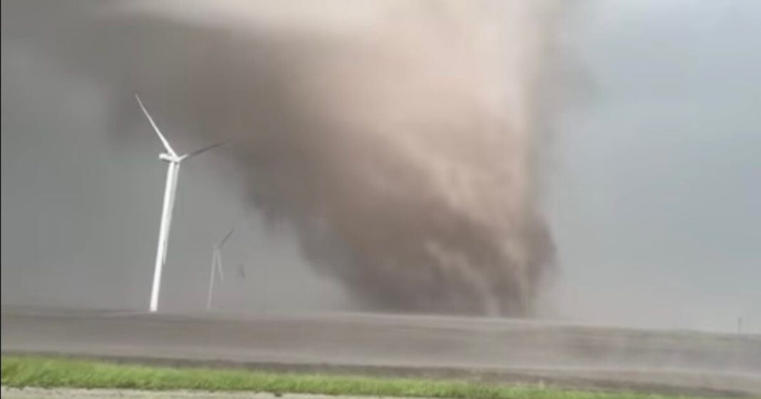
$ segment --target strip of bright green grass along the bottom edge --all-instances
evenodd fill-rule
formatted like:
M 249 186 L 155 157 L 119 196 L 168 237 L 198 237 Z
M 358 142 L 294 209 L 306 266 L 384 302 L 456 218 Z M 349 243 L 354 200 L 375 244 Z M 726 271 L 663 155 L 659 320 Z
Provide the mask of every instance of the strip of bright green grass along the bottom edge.
M 189 389 L 303 394 L 441 397 L 452 399 L 674 399 L 632 392 L 571 391 L 412 378 L 253 372 L 241 369 L 170 368 L 38 356 L 2 356 L 2 385 L 43 388 Z M 684 396 L 682 396 L 684 397 Z

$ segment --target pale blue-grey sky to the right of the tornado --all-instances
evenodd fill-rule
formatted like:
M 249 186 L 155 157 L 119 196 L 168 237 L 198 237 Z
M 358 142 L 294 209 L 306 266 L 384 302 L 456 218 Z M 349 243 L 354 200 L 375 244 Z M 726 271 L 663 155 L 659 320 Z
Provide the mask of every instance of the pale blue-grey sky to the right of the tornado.
M 761 4 L 589 2 L 551 213 L 584 318 L 761 330 Z

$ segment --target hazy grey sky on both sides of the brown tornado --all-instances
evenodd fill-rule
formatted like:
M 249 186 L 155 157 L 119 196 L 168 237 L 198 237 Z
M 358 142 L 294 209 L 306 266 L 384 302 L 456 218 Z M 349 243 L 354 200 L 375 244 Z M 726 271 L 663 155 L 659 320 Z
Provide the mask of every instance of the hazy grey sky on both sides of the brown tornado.
M 97 71 L 124 65 L 88 78 L 59 65 L 67 46 L 119 52 L 84 33 L 58 46 L 86 5 L 63 3 L 2 3 L 2 303 L 140 309 L 161 144 L 145 124 L 113 135 L 139 121 L 133 88 L 115 100 L 119 82 Z M 743 317 L 761 331 L 761 5 L 578 2 L 568 18 L 578 72 L 551 123 L 546 209 L 562 275 L 549 315 L 721 331 Z M 288 227 L 265 226 L 223 183 L 235 167 L 224 150 L 183 164 L 161 307 L 202 308 L 212 243 L 235 223 L 224 263 L 247 274 L 221 286 L 219 307 L 352 309 Z

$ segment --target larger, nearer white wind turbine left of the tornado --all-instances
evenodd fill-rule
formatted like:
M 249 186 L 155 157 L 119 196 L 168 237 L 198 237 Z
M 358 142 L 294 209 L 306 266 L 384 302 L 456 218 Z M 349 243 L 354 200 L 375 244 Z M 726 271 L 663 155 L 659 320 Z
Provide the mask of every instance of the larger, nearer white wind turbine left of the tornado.
M 153 130 L 156 131 L 156 135 L 164 143 L 165 152 L 159 154 L 158 159 L 168 163 L 167 167 L 167 185 L 164 188 L 164 206 L 161 209 L 161 227 L 158 230 L 158 249 L 156 249 L 156 266 L 153 271 L 153 286 L 151 288 L 151 312 L 158 310 L 158 291 L 161 289 L 161 271 L 164 268 L 164 264 L 167 261 L 167 242 L 169 240 L 169 227 L 172 223 L 172 210 L 174 208 L 174 197 L 177 192 L 177 176 L 180 173 L 180 163 L 190 157 L 195 157 L 202 152 L 211 150 L 214 147 L 219 147 L 224 142 L 212 144 L 209 147 L 203 147 L 200 150 L 195 150 L 188 154 L 177 155 L 177 152 L 169 145 L 169 141 L 164 135 L 161 134 L 156 122 L 153 122 L 151 114 L 143 106 L 140 97 L 135 95 L 135 99 L 138 100 L 138 104 L 145 117 L 148 118 L 148 122 L 151 122 Z

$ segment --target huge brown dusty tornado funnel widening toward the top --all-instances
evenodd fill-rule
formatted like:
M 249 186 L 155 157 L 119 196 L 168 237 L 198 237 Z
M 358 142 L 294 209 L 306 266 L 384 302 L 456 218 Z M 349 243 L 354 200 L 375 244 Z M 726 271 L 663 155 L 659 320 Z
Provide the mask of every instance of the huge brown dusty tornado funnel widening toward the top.
M 65 52 L 37 47 L 118 93 L 117 141 L 148 129 L 134 93 L 194 143 L 233 137 L 228 184 L 361 308 L 531 315 L 555 267 L 539 91 L 558 9 L 96 2 L 58 15 L 88 21 Z

